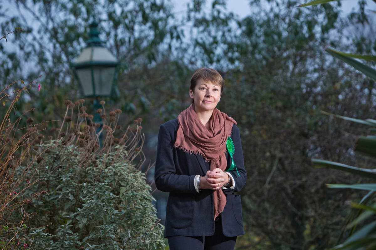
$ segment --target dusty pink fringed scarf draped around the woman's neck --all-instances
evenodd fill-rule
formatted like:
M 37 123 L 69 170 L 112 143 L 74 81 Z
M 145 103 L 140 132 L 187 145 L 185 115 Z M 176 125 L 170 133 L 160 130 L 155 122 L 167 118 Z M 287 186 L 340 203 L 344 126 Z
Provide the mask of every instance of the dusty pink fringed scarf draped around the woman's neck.
M 209 120 L 210 130 L 208 130 L 194 111 L 194 104 L 181 112 L 177 121 L 179 128 L 174 146 L 190 154 L 199 154 L 204 157 L 206 162 L 210 162 L 210 170 L 220 168 L 224 171 L 227 166 L 224 154 L 226 142 L 231 134 L 232 125 L 237 124 L 236 121 L 215 108 Z M 215 190 L 213 197 L 215 220 L 226 205 L 226 196 L 220 189 Z

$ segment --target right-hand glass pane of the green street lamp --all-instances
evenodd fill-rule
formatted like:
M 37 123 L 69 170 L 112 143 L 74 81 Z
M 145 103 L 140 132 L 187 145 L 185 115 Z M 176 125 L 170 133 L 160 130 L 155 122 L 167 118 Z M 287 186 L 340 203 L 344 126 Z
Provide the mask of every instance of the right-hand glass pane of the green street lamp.
M 96 96 L 109 96 L 114 81 L 115 67 L 94 67 Z

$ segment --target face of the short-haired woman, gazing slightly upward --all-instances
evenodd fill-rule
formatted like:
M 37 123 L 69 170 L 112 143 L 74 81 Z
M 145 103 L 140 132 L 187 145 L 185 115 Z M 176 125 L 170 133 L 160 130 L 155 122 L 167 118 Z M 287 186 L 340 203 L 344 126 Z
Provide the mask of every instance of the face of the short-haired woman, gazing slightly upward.
M 196 87 L 189 91 L 189 95 L 194 100 L 196 113 L 212 111 L 221 99 L 221 86 L 199 79 Z

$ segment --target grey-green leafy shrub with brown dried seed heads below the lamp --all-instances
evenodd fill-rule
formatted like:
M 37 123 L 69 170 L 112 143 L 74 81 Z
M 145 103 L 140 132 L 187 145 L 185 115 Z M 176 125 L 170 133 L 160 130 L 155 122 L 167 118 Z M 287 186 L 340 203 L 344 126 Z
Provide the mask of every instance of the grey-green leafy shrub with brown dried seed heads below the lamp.
M 44 136 L 34 138 L 32 168 L 17 168 L 17 174 L 38 180 L 22 193 L 22 197 L 36 195 L 38 199 L 23 205 L 21 216 L 30 219 L 27 228 L 18 227 L 18 247 L 163 248 L 163 226 L 156 223 L 151 188 L 133 164 L 142 156 L 144 136 L 139 120 L 134 128 L 122 131 L 118 126 L 121 111 L 110 112 L 108 119 L 103 107 L 98 110 L 100 128 L 83 102 L 66 101 L 63 124 L 54 130 L 57 138 L 46 142 Z M 19 217 L 19 211 L 12 213 L 12 218 Z

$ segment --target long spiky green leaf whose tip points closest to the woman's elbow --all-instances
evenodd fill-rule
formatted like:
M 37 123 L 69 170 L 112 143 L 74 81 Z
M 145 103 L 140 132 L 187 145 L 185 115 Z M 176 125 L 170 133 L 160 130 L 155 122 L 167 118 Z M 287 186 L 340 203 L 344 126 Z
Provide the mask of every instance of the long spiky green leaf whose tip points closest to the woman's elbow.
M 329 160 L 321 160 L 321 159 L 312 159 L 312 164 L 316 168 L 333 168 L 342 171 L 346 171 L 352 174 L 361 175 L 368 178 L 376 179 L 376 170 L 375 169 L 364 169 L 364 168 L 356 168 L 353 166 L 345 165 L 338 162 L 331 162 Z

